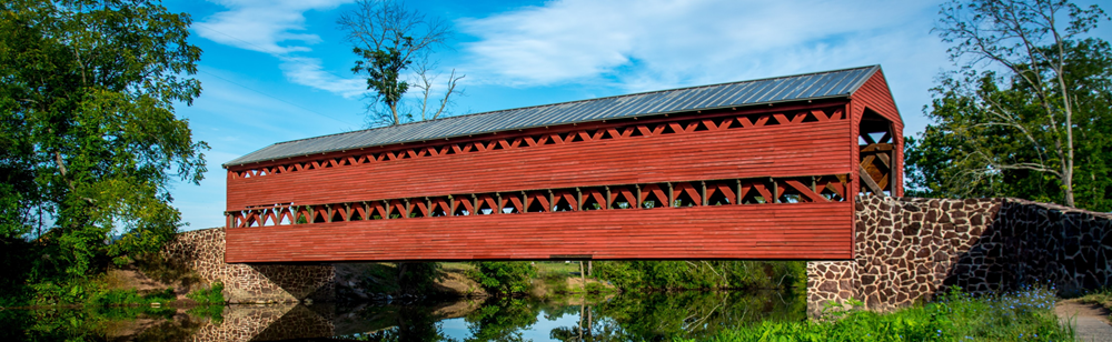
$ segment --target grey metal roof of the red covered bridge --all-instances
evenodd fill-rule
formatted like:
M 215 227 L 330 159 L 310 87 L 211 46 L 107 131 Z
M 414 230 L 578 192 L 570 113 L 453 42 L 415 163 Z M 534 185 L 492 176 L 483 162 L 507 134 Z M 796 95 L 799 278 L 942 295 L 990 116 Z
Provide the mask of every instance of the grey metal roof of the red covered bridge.
M 279 142 L 225 168 L 289 157 L 694 110 L 848 97 L 880 66 L 580 100 Z

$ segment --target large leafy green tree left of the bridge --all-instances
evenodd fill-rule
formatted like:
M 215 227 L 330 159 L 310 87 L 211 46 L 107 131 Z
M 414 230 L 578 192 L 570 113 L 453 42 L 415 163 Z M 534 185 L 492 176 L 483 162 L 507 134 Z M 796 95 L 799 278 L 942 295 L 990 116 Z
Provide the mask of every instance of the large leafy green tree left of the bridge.
M 31 245 L 31 282 L 86 278 L 182 225 L 169 187 L 199 183 L 208 148 L 173 113 L 201 91 L 189 23 L 157 1 L 0 4 L 0 240 Z

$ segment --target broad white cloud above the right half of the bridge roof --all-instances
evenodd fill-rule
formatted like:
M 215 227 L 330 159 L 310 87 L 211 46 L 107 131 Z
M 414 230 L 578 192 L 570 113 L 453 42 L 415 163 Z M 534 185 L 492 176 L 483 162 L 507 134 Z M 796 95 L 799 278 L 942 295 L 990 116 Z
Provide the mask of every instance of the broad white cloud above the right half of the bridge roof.
M 620 83 L 639 78 L 685 83 L 845 59 L 832 52 L 860 36 L 897 27 L 925 7 L 565 0 L 459 23 L 479 38 L 465 46 L 473 57 L 469 69 L 496 76 L 495 82 L 536 86 L 616 74 Z

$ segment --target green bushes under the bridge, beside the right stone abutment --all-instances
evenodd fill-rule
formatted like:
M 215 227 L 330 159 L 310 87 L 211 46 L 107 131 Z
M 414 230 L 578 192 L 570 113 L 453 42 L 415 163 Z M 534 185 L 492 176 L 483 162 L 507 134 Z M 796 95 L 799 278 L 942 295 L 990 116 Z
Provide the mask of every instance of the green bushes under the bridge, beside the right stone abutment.
M 599 261 L 595 274 L 623 290 L 802 288 L 806 264 L 796 261 Z

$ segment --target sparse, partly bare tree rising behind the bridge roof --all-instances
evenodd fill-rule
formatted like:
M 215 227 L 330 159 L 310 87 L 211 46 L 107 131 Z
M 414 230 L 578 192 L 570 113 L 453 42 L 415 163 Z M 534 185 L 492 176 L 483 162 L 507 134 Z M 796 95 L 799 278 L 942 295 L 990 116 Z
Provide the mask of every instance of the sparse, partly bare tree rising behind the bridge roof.
M 451 95 L 459 93 L 456 86 L 464 76 L 453 69 L 443 97 L 437 97 L 438 103 L 429 103 L 440 77 L 431 54 L 451 34 L 443 20 L 409 10 L 403 1 L 359 0 L 355 10 L 340 16 L 338 23 L 360 58 L 351 71 L 365 73 L 367 89 L 373 91 L 373 101 L 367 105 L 369 125 L 439 118 L 451 103 Z M 416 105 L 405 103 L 410 86 L 420 90 Z

